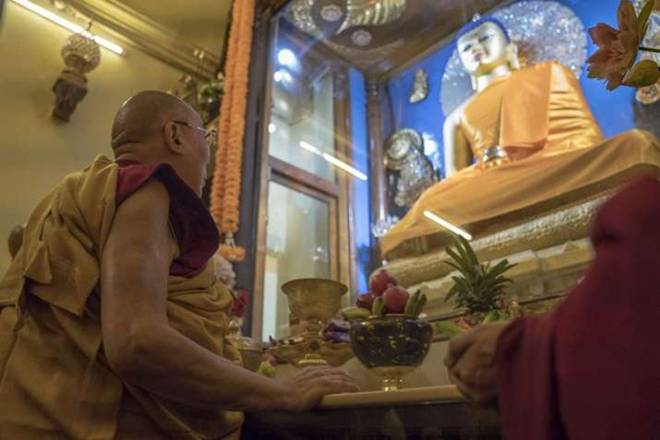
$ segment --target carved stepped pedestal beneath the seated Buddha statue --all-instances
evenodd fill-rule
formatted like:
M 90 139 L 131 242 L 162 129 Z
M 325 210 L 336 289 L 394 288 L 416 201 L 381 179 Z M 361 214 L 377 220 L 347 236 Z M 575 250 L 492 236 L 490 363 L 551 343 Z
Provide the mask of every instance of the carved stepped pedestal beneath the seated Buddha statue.
M 593 258 L 588 234 L 598 207 L 607 196 L 556 210 L 517 226 L 475 240 L 472 245 L 483 262 L 507 258 L 517 265 L 507 273 L 513 280 L 508 294 L 530 310 L 544 310 L 577 284 Z M 445 264 L 443 248 L 397 258 L 385 268 L 410 291 L 428 297 L 431 320 L 457 315 L 445 296 L 453 286 L 453 269 Z

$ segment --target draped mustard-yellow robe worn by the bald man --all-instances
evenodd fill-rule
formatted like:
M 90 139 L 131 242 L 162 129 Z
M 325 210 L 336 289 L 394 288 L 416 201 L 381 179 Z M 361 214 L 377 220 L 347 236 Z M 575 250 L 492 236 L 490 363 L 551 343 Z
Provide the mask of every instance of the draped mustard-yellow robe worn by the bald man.
M 99 260 L 115 215 L 117 170 L 99 156 L 58 184 L 32 213 L 0 282 L 2 439 L 112 439 L 123 393 L 172 438 L 225 438 L 240 430 L 240 413 L 191 408 L 126 386 L 105 361 Z M 231 303 L 210 264 L 191 278 L 169 277 L 170 324 L 239 361 L 225 340 Z

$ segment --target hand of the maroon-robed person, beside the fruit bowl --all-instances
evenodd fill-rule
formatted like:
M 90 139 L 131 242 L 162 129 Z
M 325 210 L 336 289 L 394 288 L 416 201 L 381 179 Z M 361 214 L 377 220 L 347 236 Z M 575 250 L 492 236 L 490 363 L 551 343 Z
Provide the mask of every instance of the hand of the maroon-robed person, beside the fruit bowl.
M 475 327 L 449 343 L 445 365 L 449 378 L 469 400 L 494 403 L 497 399 L 495 354 L 497 338 L 507 323 Z

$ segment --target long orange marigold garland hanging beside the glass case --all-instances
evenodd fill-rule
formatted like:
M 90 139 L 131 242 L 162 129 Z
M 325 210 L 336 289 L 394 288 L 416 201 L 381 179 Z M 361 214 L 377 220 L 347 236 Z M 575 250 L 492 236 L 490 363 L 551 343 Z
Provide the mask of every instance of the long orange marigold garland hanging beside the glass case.
M 211 215 L 224 235 L 224 243 L 218 252 L 232 262 L 245 258 L 245 250 L 234 243 L 234 234 L 240 221 L 243 138 L 254 12 L 255 0 L 234 1 L 211 189 Z

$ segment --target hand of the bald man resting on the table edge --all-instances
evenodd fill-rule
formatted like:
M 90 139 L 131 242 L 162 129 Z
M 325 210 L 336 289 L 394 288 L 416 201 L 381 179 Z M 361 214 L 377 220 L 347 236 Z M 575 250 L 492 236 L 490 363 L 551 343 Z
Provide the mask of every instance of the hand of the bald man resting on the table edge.
M 331 367 L 308 367 L 283 381 L 286 409 L 305 411 L 318 405 L 326 394 L 352 393 L 359 387 L 346 372 Z

